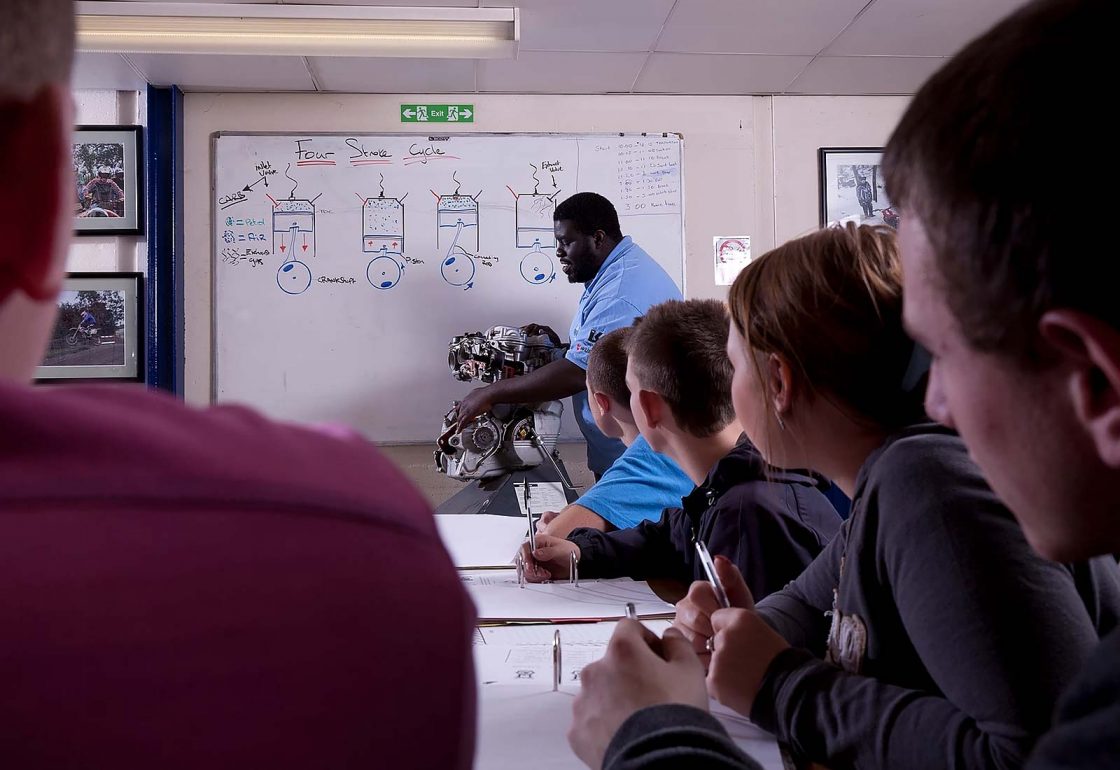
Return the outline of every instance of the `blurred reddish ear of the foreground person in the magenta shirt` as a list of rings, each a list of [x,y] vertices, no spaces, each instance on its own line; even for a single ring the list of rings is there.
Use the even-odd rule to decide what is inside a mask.
[[[62,224],[64,189],[73,185],[69,170],[69,92],[55,84],[45,86],[28,102],[6,104],[3,145],[8,165],[4,176],[13,184],[0,185],[0,210],[25,212],[18,227],[4,232],[0,252],[0,300],[18,290],[29,299],[54,299],[65,278],[59,241],[67,240],[73,224]],[[57,263],[57,264],[56,264]]]

